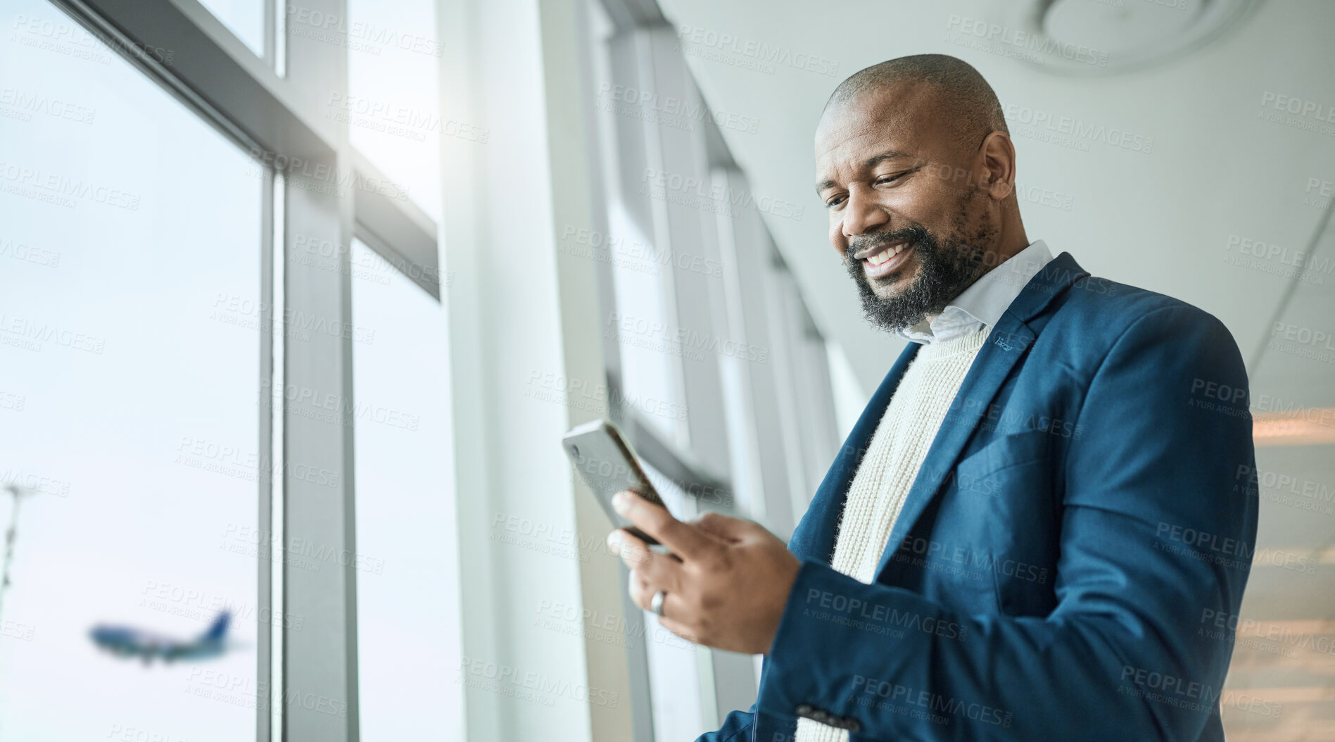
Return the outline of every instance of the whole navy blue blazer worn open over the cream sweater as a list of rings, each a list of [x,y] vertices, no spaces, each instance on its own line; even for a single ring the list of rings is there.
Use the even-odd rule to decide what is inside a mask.
[[[1222,741],[1258,510],[1228,330],[1059,255],[992,328],[864,585],[830,567],[836,527],[917,348],[793,532],[756,705],[700,739],[788,742],[809,717],[853,742]]]

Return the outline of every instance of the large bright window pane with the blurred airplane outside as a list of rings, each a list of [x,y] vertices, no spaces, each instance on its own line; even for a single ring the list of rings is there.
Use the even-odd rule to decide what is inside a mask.
[[[0,23],[0,738],[251,739],[262,171],[51,5]]]

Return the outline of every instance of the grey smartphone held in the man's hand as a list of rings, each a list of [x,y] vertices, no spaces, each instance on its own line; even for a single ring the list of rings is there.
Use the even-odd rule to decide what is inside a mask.
[[[607,420],[585,423],[570,428],[570,432],[561,438],[561,443],[570,456],[570,463],[593,490],[607,518],[618,528],[625,528],[645,543],[658,544],[654,536],[637,528],[611,507],[611,495],[622,490],[631,490],[651,503],[668,507],[654,491],[654,486],[617,426]]]

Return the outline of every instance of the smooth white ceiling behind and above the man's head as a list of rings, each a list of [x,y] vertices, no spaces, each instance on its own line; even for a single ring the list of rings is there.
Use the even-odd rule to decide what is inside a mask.
[[[1069,251],[1095,275],[1212,312],[1251,362],[1290,280],[1226,264],[1226,246],[1236,235],[1302,251],[1314,236],[1322,211],[1303,204],[1310,196],[1304,188],[1310,177],[1335,180],[1335,136],[1263,120],[1259,113],[1267,111],[1262,107],[1267,91],[1335,104],[1330,36],[1335,3],[1263,3],[1231,33],[1183,57],[1103,76],[1060,73],[1055,69],[1063,67],[1060,59],[1039,65],[948,40],[965,19],[1017,27],[1017,1],[661,0],[661,5],[678,29],[736,39],[725,47],[693,44],[690,33],[682,35],[688,64],[712,109],[758,121],[754,133],[722,129],[756,195],[805,207],[802,219],[766,214],[765,220],[817,324],[846,354],[864,392],[881,380],[902,342],[862,320],[848,275],[826,242],[825,211],[812,188],[812,135],[821,107],[845,76],[924,52],[952,53],[988,77],[1008,107],[1019,183],[1031,194],[1052,192],[1047,202],[1069,204],[1068,211],[1021,202],[1031,239],[1044,239],[1055,254]],[[1119,1],[1149,0],[1099,4]],[[745,52],[748,43],[780,49],[792,60],[816,57],[816,67],[837,63],[837,73],[793,64],[752,69],[745,64],[754,61]],[[1152,149],[1137,152],[1101,140],[1088,141],[1087,149],[1040,141],[1024,135],[1033,127],[1017,121],[1029,111],[1132,132],[1152,139]],[[1335,283],[1335,275],[1327,283]],[[1330,314],[1300,322],[1332,324]]]

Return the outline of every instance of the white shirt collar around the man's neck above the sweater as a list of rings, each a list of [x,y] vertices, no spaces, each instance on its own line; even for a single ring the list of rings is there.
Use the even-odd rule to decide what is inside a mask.
[[[913,327],[897,330],[898,335],[914,343],[934,343],[991,330],[1015,298],[1024,291],[1029,279],[1052,260],[1052,252],[1043,240],[1029,243],[1029,247],[1016,252],[1011,259],[983,274],[945,306],[930,322],[922,320]]]

